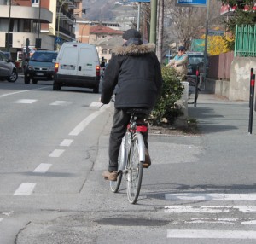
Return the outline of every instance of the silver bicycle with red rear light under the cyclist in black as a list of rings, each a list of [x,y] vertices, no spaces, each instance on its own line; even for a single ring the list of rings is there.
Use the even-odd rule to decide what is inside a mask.
[[[128,113],[131,114],[131,119],[119,150],[118,178],[117,181],[110,181],[110,189],[113,193],[117,193],[124,176],[128,200],[131,204],[135,204],[143,181],[143,162],[145,162],[142,132],[148,131],[148,124],[138,118],[148,114],[148,110],[132,108]]]

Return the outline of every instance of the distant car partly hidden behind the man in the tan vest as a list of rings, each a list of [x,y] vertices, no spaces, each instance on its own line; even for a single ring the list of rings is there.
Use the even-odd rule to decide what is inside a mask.
[[[188,76],[196,74],[196,68],[199,67],[199,72],[204,72],[204,53],[203,52],[187,52],[189,56],[188,64]],[[207,71],[208,71],[208,59],[207,59]]]

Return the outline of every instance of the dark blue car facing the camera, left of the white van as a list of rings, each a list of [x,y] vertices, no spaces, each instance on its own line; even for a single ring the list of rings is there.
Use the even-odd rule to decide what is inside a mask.
[[[38,80],[53,80],[55,75],[56,51],[38,50],[33,53],[30,60],[26,60],[24,69],[24,83],[38,84]]]

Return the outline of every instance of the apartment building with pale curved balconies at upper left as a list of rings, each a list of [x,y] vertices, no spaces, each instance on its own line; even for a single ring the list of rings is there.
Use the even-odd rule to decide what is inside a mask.
[[[0,0],[0,49],[9,50],[14,60],[29,48],[58,49],[75,40],[74,9],[82,0]],[[9,37],[9,38],[8,38]],[[9,45],[8,45],[9,43]]]

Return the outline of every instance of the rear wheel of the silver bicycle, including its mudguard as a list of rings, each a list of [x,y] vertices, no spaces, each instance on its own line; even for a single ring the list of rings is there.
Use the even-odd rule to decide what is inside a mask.
[[[140,148],[143,136],[137,134],[131,140],[131,150],[127,166],[127,197],[130,203],[135,204],[140,193],[143,181],[143,162],[140,161]]]

